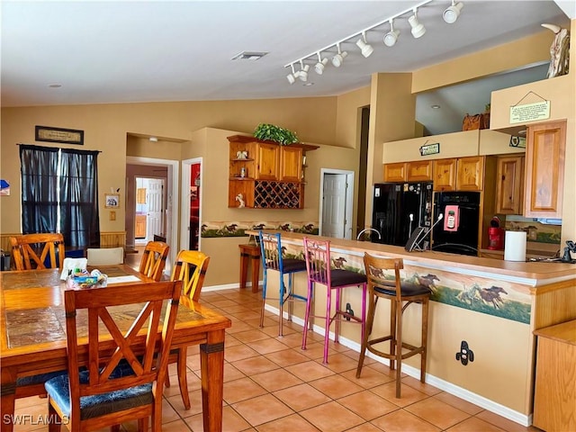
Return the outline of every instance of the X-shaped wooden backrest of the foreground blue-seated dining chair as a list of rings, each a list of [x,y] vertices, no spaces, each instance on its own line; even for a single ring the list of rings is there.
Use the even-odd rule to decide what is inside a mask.
[[[79,402],[75,398],[145,383],[163,385],[181,290],[182,282],[174,281],[67,290],[64,293],[73,416],[74,405]],[[89,379],[81,383],[79,374],[72,372],[79,366],[77,321],[86,319]],[[160,328],[161,338],[158,337]],[[160,354],[156,356],[158,347]],[[117,368],[122,360],[131,366],[130,374],[121,374],[125,376],[118,375]],[[129,370],[126,365],[122,368]]]

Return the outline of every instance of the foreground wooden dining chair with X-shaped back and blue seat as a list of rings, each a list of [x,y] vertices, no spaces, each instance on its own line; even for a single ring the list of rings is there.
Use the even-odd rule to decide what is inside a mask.
[[[182,283],[175,281],[64,292],[68,366],[67,374],[46,383],[49,432],[61,424],[84,432],[131,419],[146,431],[148,417],[152,431],[161,431],[162,391],[181,291]],[[87,347],[78,346],[86,337]],[[78,372],[83,356],[87,370]]]

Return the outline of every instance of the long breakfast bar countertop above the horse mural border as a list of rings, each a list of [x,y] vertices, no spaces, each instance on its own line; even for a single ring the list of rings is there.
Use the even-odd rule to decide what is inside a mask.
[[[306,235],[292,231],[278,231],[264,229],[265,232],[280,232],[282,238],[302,241],[304,237],[330,240],[330,247],[341,248],[350,253],[364,255],[364,252],[382,254],[386,257],[401,257],[406,261],[427,267],[449,266],[461,268],[468,272],[482,274],[495,274],[500,277],[518,278],[523,284],[541,286],[556,282],[575,280],[576,265],[567,263],[546,262],[512,262],[495,257],[469,257],[464,255],[447,254],[444,252],[407,252],[404,247],[383,245],[368,241],[348,240],[345,238],[328,238],[322,236]],[[258,235],[257,230],[247,230],[247,234]],[[490,251],[501,252],[501,251]]]

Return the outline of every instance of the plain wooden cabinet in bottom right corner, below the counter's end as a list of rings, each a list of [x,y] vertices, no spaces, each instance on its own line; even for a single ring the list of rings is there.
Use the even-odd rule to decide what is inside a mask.
[[[537,329],[534,419],[543,430],[576,430],[576,320]]]

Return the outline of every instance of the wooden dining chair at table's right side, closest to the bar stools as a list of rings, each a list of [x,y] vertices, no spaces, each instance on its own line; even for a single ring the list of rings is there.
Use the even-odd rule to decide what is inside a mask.
[[[210,264],[210,257],[197,250],[181,250],[178,252],[174,270],[170,280],[182,281],[184,295],[190,297],[194,302],[200,300],[200,292],[206,270]],[[168,363],[176,364],[178,373],[178,386],[182,394],[184,408],[190,410],[190,396],[188,395],[188,378],[186,377],[186,355],[187,346],[175,347],[170,353]],[[170,377],[166,374],[166,387],[170,387]]]

